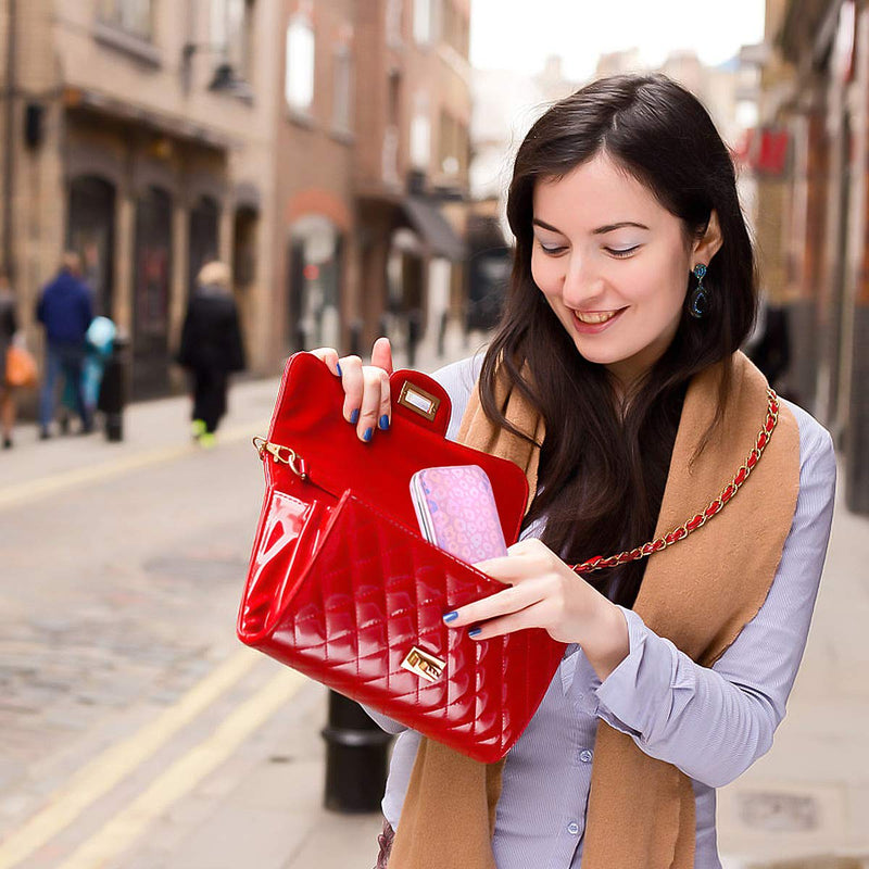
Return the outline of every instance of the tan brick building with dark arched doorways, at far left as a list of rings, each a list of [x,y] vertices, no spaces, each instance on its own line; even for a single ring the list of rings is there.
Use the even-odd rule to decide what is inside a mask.
[[[129,336],[134,398],[177,383],[184,310],[210,259],[234,266],[252,368],[274,362],[263,230],[276,207],[278,12],[256,0],[0,3],[13,95],[3,254],[23,319],[61,252],[78,251],[97,312]]]

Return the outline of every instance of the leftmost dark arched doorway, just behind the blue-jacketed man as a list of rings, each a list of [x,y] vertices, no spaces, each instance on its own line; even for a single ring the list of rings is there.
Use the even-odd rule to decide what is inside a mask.
[[[95,314],[113,316],[115,188],[97,175],[70,184],[66,249],[81,256],[84,278],[93,292]]]

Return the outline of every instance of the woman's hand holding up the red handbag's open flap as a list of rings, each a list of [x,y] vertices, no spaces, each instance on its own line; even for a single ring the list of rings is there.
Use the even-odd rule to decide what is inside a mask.
[[[311,351],[341,378],[344,388],[343,416],[356,427],[356,434],[366,443],[377,429],[386,430],[392,420],[389,376],[392,374],[392,348],[388,338],[378,338],[371,349],[371,364],[363,365],[358,356],[341,356],[330,347]]]

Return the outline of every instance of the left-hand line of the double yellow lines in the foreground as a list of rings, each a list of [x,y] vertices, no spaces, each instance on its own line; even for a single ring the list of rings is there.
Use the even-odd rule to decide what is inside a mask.
[[[108,748],[76,772],[52,794],[46,808],[0,843],[0,869],[15,866],[68,827],[261,659],[252,650],[240,648],[154,721]]]

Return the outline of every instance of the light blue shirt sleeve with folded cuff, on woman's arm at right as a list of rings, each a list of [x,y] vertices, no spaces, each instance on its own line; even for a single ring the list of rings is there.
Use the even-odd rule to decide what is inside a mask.
[[[733,781],[772,744],[803,657],[827,554],[835,454],[829,433],[797,412],[799,495],[779,569],[755,618],[705,668],[624,609],[630,652],[596,688],[600,718],[646,754],[713,788]]]

